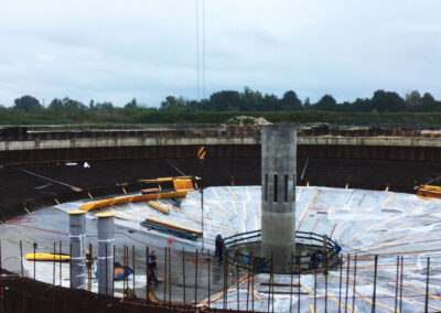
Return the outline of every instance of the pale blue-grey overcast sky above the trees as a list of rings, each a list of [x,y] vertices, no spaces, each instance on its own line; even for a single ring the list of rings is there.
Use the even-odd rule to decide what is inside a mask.
[[[205,0],[205,95],[440,99],[440,14],[439,0]],[[0,104],[194,99],[196,51],[196,0],[1,0]]]

